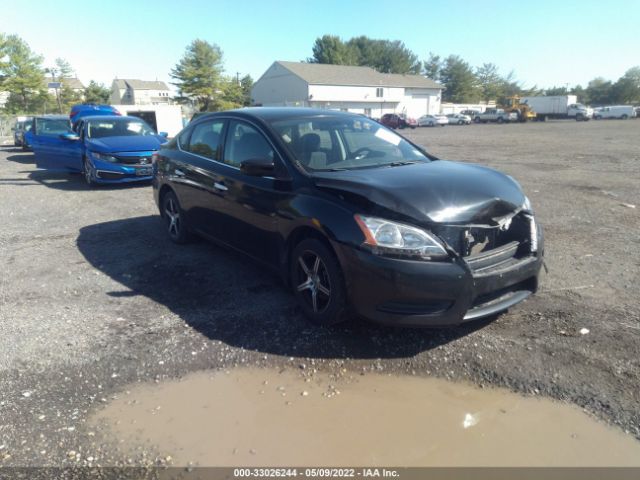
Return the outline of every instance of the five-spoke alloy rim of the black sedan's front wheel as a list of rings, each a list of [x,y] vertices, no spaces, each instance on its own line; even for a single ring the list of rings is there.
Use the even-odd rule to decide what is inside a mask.
[[[315,253],[306,250],[298,257],[296,289],[314,313],[324,312],[331,301],[331,280],[327,266]]]

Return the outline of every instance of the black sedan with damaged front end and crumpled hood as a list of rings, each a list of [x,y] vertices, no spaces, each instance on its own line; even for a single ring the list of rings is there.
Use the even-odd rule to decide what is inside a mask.
[[[538,287],[542,232],[513,178],[360,115],[200,116],[154,155],[153,187],[174,242],[197,234],[277,270],[319,324],[456,325]]]

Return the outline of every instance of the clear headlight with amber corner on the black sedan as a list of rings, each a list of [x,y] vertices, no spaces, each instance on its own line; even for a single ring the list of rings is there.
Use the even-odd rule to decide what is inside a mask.
[[[420,228],[364,215],[355,215],[355,220],[364,234],[364,243],[374,253],[425,260],[448,256],[442,243]]]

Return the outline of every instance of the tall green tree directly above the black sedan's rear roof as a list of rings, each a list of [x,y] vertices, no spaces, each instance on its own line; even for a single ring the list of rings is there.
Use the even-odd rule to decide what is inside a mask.
[[[172,83],[178,87],[179,97],[197,103],[201,112],[214,107],[214,99],[223,95],[222,50],[205,40],[194,40],[184,56],[171,70]],[[220,104],[220,102],[217,102]]]

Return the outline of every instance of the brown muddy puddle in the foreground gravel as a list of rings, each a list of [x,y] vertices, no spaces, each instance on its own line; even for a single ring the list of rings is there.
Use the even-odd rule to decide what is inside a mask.
[[[640,465],[640,442],[576,407],[416,377],[197,373],[133,387],[92,423],[174,465]]]

